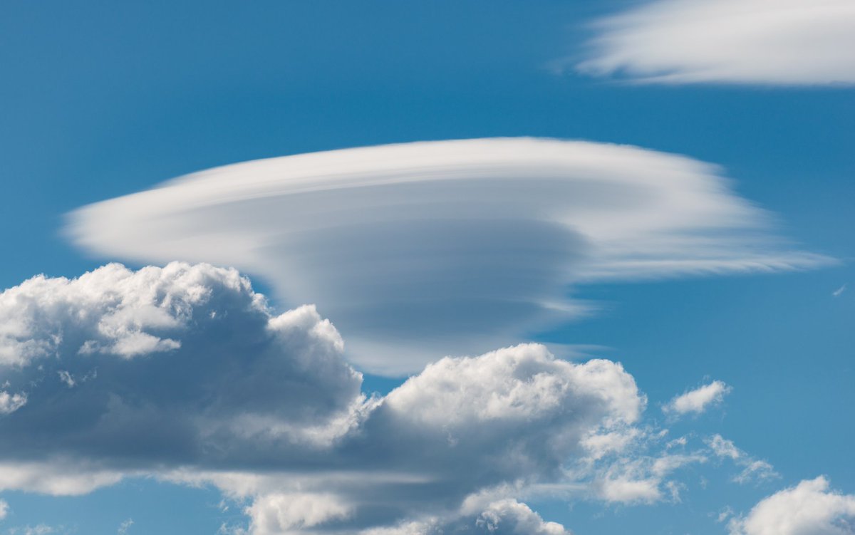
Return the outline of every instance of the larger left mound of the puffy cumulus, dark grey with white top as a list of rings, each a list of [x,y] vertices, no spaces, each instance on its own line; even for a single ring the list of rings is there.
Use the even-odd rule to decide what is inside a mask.
[[[233,269],[118,264],[0,294],[0,456],[209,462],[329,440],[361,377],[315,309]],[[264,453],[267,451],[268,453]]]

